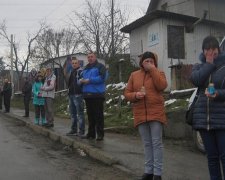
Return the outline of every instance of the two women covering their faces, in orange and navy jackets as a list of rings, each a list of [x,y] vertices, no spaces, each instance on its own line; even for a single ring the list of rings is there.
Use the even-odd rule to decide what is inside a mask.
[[[164,72],[157,55],[145,52],[140,70],[131,73],[124,95],[132,102],[134,126],[138,128],[145,152],[142,180],[161,180],[163,169],[162,126],[166,124],[163,90]],[[211,180],[225,177],[225,53],[219,42],[207,36],[202,42],[200,63],[193,66],[190,80],[198,88],[192,128],[199,131],[205,147]],[[214,85],[214,91],[209,90]]]

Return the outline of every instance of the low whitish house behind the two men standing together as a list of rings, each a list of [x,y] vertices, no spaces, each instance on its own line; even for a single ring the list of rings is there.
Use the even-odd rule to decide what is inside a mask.
[[[56,90],[64,90],[67,88],[67,81],[72,70],[71,59],[76,57],[84,67],[88,64],[87,54],[85,53],[75,53],[66,56],[60,56],[56,58],[51,58],[40,65],[40,67],[46,67],[51,65],[54,68],[54,74],[56,75]],[[97,59],[100,63],[105,64],[105,60]]]

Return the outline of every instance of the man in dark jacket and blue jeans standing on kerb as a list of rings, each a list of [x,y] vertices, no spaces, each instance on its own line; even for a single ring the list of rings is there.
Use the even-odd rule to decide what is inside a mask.
[[[81,76],[80,63],[76,57],[72,58],[73,71],[70,74],[68,88],[69,88],[69,107],[70,116],[72,120],[71,130],[67,135],[83,136],[85,133],[85,120],[84,120],[84,101],[81,91],[81,85],[78,81]],[[79,124],[79,132],[77,130]]]

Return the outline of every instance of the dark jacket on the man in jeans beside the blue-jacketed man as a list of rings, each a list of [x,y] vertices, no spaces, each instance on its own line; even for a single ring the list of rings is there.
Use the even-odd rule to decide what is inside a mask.
[[[81,79],[82,69],[74,69],[69,77],[68,88],[69,95],[82,94],[82,85],[78,83]]]

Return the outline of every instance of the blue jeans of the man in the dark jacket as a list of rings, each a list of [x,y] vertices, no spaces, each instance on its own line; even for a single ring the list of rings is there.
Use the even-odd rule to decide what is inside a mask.
[[[70,116],[72,120],[71,129],[77,132],[77,123],[79,123],[79,134],[85,133],[84,120],[84,100],[82,95],[69,95]]]

